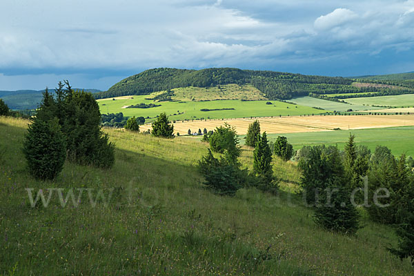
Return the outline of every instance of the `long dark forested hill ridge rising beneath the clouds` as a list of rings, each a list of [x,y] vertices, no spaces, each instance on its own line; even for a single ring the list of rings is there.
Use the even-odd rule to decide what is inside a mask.
[[[375,82],[369,79],[365,82]],[[133,75],[115,83],[108,91],[95,94],[96,99],[120,97],[127,95],[148,95],[152,92],[175,88],[208,88],[226,84],[248,84],[266,95],[267,99],[291,99],[308,95],[335,93],[381,92],[403,94],[413,92],[412,88],[391,86],[355,86],[355,79],[344,77],[324,77],[273,72],[260,70],[241,70],[237,68],[207,68],[202,70],[185,70],[175,68],[155,68]],[[397,84],[400,86],[400,84]],[[414,88],[414,87],[413,87]]]

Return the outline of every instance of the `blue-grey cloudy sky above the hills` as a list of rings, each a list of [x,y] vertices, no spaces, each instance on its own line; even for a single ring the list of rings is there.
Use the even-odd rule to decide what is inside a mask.
[[[414,71],[414,0],[1,0],[0,90],[107,90],[149,68]]]

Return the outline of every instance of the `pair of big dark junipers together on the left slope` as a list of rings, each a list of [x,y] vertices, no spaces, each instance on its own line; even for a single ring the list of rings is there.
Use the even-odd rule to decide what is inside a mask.
[[[28,169],[39,179],[54,179],[66,159],[110,168],[115,145],[101,130],[99,106],[91,93],[59,82],[55,97],[46,89],[23,142]]]

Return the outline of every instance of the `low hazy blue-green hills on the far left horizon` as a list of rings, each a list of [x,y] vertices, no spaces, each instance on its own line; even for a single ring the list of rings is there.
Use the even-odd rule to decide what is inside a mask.
[[[74,88],[74,90],[82,90],[79,88]],[[86,92],[97,93],[101,90],[97,89],[83,89]],[[8,107],[13,110],[26,110],[37,108],[37,105],[42,99],[42,93],[45,90],[16,90],[16,91],[7,91],[0,90],[0,98],[6,102]],[[54,91],[50,89],[50,91]]]

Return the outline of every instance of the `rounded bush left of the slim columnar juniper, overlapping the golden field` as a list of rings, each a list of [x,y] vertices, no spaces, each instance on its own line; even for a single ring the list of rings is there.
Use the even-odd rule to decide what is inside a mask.
[[[224,153],[230,162],[237,162],[242,150],[239,146],[237,132],[233,126],[224,123],[224,126],[217,127],[209,137],[209,141],[211,150]]]

